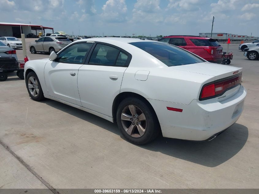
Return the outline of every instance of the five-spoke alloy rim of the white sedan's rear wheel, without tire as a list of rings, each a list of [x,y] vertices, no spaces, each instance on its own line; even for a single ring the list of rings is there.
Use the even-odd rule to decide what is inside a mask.
[[[134,138],[142,137],[147,129],[146,116],[135,105],[124,107],[121,113],[121,123],[126,133]]]

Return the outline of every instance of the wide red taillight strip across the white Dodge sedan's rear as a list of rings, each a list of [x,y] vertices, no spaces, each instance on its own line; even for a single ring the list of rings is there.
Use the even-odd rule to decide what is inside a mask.
[[[228,89],[240,85],[242,81],[242,73],[236,75],[235,77],[226,78],[222,81],[216,81],[211,84],[206,84],[203,86],[200,94],[199,100],[207,100],[209,98],[214,98],[221,96]]]

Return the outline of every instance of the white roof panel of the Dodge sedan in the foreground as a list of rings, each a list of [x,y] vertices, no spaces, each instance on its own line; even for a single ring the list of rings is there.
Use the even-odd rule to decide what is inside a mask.
[[[111,43],[111,42],[120,42],[120,43],[132,43],[132,42],[157,42],[154,40],[140,40],[138,38],[122,38],[122,37],[101,37],[101,38],[87,38],[77,40],[79,41],[97,41],[97,42],[104,42],[104,43]]]

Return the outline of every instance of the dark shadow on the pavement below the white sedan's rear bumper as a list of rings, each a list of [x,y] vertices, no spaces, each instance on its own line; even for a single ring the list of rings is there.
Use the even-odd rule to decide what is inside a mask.
[[[164,138],[161,134],[153,142],[141,147],[207,167],[215,167],[237,154],[246,144],[247,138],[247,127],[235,123],[209,142]]]

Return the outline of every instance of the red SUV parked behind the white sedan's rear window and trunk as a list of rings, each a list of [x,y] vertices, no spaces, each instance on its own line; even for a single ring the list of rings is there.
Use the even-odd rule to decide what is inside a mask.
[[[222,63],[222,46],[217,39],[201,36],[165,36],[158,40],[184,48],[201,58],[212,62]]]

